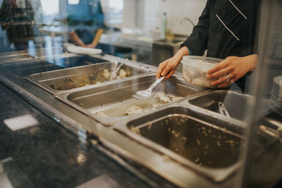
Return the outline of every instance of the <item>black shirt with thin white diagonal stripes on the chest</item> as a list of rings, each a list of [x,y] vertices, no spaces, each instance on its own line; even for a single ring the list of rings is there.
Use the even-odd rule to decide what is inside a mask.
[[[193,56],[226,58],[257,53],[259,0],[207,0],[199,23],[181,44]],[[246,76],[236,83],[245,91]]]

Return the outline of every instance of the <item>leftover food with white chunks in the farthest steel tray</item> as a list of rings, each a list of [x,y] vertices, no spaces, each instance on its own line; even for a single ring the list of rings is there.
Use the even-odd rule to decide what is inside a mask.
[[[63,80],[63,83],[61,84],[51,84],[50,87],[52,89],[56,90],[69,90],[69,89],[75,89],[78,87],[85,87],[92,84],[99,84],[102,82],[109,81],[111,73],[109,70],[99,70],[97,73],[90,74],[84,74],[84,75],[78,75],[75,77],[66,77],[65,80]],[[124,70],[121,69],[119,73],[114,76],[116,79],[122,79],[124,77],[130,77],[131,73],[130,70]],[[111,78],[112,80],[112,78]]]

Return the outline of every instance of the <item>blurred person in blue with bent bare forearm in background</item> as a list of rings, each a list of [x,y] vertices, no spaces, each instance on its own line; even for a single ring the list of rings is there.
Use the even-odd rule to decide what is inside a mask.
[[[74,44],[87,48],[96,48],[104,31],[104,14],[100,1],[94,1],[94,18],[92,30],[78,29],[70,33],[70,40]]]

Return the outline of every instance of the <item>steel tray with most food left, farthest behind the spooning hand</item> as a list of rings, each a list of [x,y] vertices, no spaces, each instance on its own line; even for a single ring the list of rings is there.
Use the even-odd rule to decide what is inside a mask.
[[[75,68],[36,73],[27,76],[26,78],[48,92],[55,94],[64,90],[96,84],[97,81],[109,81],[109,79],[104,77],[103,71],[107,70],[111,73],[114,70],[114,66],[115,63],[113,62],[95,63]],[[151,72],[149,68],[141,68],[127,64],[122,65],[121,69],[125,70],[127,73],[126,77],[133,77]]]

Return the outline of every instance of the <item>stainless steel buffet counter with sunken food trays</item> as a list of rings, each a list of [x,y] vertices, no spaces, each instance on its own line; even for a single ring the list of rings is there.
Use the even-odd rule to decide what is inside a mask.
[[[145,166],[179,187],[231,187],[245,142],[245,111],[238,104],[252,96],[197,87],[176,74],[163,80],[151,98],[133,99],[134,92],[154,82],[156,71],[109,55],[65,54],[54,61],[2,63],[0,80],[82,143],[118,154],[136,171]],[[231,118],[219,113],[219,102]],[[263,120],[262,125],[257,148],[262,138],[264,146],[278,144],[277,123]]]

